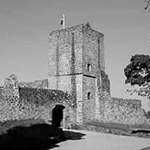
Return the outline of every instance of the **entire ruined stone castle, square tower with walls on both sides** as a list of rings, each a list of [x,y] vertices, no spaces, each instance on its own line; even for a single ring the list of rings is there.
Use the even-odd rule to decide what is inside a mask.
[[[0,121],[40,118],[49,122],[57,104],[65,106],[63,126],[92,122],[149,125],[140,100],[112,98],[105,73],[104,35],[89,23],[49,35],[48,80],[18,83],[6,79],[0,88]]]

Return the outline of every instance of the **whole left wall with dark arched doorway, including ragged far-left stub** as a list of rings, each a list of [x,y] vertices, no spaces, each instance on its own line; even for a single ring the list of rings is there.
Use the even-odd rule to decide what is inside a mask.
[[[63,126],[70,128],[75,125],[75,108],[70,95],[59,90],[18,87],[18,81],[12,81],[10,76],[1,88],[0,121],[40,118],[50,123],[52,109],[61,104],[66,107]],[[14,86],[18,93],[14,93]]]

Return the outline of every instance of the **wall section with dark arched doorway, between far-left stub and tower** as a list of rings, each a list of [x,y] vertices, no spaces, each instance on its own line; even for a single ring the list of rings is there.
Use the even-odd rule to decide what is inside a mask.
[[[68,114],[64,113],[64,119],[67,118],[68,125],[74,123],[74,104],[67,93],[58,90],[20,88],[19,94],[21,118],[40,118],[49,122],[52,109],[57,104],[61,104],[65,106],[65,112],[69,111]]]

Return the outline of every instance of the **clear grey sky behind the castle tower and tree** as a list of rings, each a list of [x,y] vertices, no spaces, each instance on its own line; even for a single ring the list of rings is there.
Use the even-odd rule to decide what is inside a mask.
[[[126,93],[124,68],[135,54],[150,54],[150,8],[144,0],[0,0],[0,85],[48,78],[49,33],[89,22],[104,34],[105,68],[113,97]]]

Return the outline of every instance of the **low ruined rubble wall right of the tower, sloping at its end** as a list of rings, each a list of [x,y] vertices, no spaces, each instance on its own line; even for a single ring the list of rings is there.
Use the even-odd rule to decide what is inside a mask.
[[[122,124],[150,124],[140,100],[111,98],[105,94],[100,99],[99,121]]]

